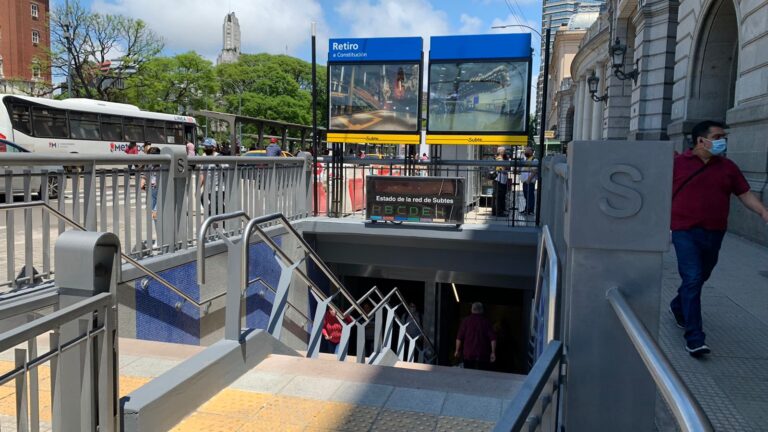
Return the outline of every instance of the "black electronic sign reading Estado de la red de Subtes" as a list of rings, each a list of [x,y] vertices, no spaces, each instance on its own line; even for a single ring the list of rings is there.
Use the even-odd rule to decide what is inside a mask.
[[[377,221],[464,223],[464,179],[366,178],[366,218]]]

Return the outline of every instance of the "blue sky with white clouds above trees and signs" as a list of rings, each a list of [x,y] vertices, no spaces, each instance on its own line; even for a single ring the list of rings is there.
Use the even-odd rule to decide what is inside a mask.
[[[104,13],[140,18],[165,40],[165,54],[194,50],[215,61],[222,23],[229,11],[240,21],[242,51],[311,58],[310,23],[318,26],[318,61],[325,63],[328,39],[490,33],[499,24],[540,30],[540,0],[81,0]],[[53,0],[53,5],[64,0]],[[522,28],[501,30],[526,32]],[[535,34],[534,80],[539,70]],[[426,55],[425,55],[426,57]]]

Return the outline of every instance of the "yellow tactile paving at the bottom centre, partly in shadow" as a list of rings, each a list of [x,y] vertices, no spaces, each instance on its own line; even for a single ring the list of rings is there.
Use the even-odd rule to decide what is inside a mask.
[[[225,389],[173,431],[488,431],[494,424],[377,407]]]

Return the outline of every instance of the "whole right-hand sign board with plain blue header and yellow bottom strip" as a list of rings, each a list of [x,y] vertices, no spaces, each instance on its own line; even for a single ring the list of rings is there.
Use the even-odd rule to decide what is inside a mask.
[[[513,136],[528,130],[530,41],[529,34],[432,37],[428,142],[524,143]]]

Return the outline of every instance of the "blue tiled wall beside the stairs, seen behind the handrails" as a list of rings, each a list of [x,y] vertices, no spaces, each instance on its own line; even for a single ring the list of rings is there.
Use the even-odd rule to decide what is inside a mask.
[[[278,245],[281,237],[274,238]],[[190,262],[159,272],[160,276],[179,288],[184,294],[200,301],[197,285],[197,263]],[[280,266],[274,252],[264,243],[251,245],[248,261],[248,280],[261,276],[273,288],[280,279]],[[136,292],[136,338],[189,345],[200,344],[200,312],[195,305],[182,303],[180,311],[176,303],[181,296],[150,279],[147,289],[141,288],[141,279],[134,282]],[[226,289],[222,281],[221,289]],[[274,301],[272,291],[261,283],[253,283],[246,290],[246,326],[263,329],[267,325]],[[223,323],[222,323],[223,325]]]

